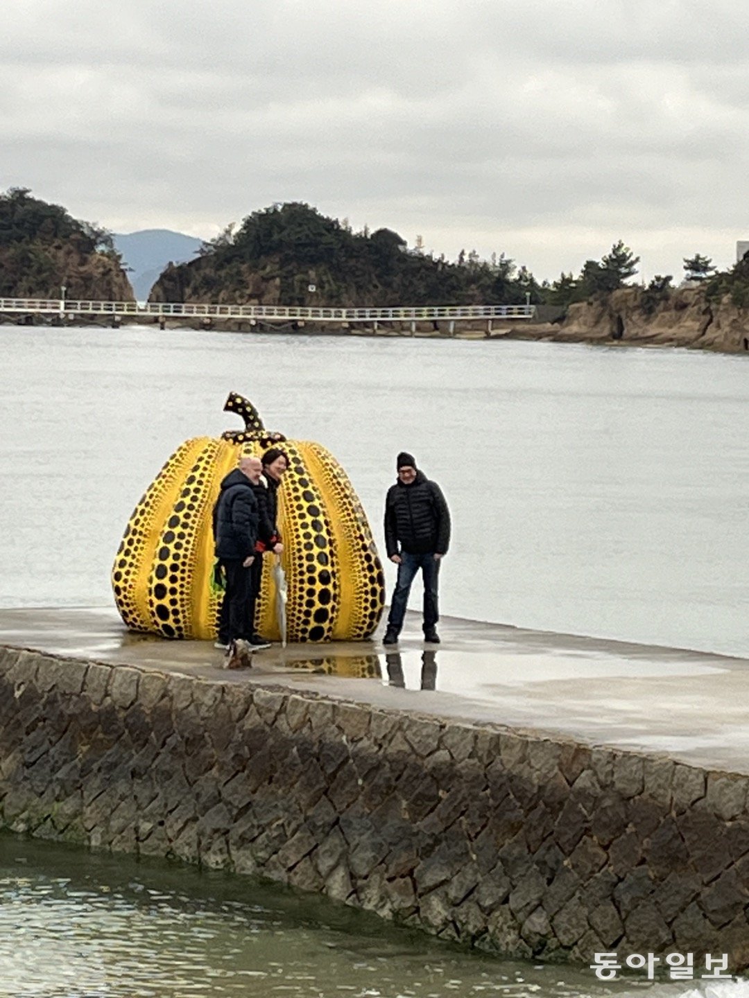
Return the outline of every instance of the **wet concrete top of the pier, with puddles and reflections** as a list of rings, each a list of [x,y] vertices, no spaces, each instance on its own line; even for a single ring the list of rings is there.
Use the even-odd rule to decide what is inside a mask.
[[[491,722],[588,745],[749,773],[749,661],[443,618],[425,645],[409,615],[381,640],[278,645],[222,669],[209,642],[125,630],[114,610],[0,611],[0,645],[203,679],[280,684],[391,710]]]

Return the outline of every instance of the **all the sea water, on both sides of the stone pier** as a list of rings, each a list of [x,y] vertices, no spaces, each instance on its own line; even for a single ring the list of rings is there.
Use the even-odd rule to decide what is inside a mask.
[[[377,539],[394,455],[416,455],[453,514],[444,613],[749,655],[744,357],[135,327],[4,326],[0,346],[0,607],[109,604],[136,500],[183,439],[238,425],[222,412],[235,389],[270,428],[339,456]],[[3,996],[644,988],[461,953],[250,881],[0,836]]]

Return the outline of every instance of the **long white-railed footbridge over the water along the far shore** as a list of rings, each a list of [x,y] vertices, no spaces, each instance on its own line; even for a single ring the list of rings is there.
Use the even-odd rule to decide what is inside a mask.
[[[0,298],[0,314],[29,316],[57,316],[68,321],[79,317],[113,319],[150,319],[165,322],[168,319],[203,320],[244,319],[250,325],[258,322],[325,322],[347,325],[359,323],[374,325],[378,322],[454,322],[485,321],[488,328],[495,319],[531,319],[535,305],[424,305],[396,308],[323,308],[296,305],[240,305],[207,304],[189,301],[76,301],[70,298]]]

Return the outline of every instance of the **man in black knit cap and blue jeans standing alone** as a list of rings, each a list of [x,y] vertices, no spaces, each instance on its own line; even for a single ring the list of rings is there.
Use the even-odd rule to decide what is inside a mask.
[[[387,557],[397,565],[397,582],[383,644],[397,642],[411,583],[419,569],[423,576],[424,641],[438,644],[437,581],[439,562],[449,547],[450,514],[441,489],[418,471],[411,454],[401,451],[396,469],[397,481],[388,489],[384,503],[384,541]]]

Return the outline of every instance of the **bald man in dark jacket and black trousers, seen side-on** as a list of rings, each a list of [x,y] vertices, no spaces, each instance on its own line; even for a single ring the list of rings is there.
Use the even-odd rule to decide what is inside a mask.
[[[260,481],[262,473],[260,458],[241,458],[239,467],[222,481],[214,506],[216,557],[227,580],[217,646],[227,649],[228,661],[236,661],[238,650],[244,654],[252,650],[250,639],[255,631],[251,616],[254,610],[252,567],[260,522],[254,485]]]

